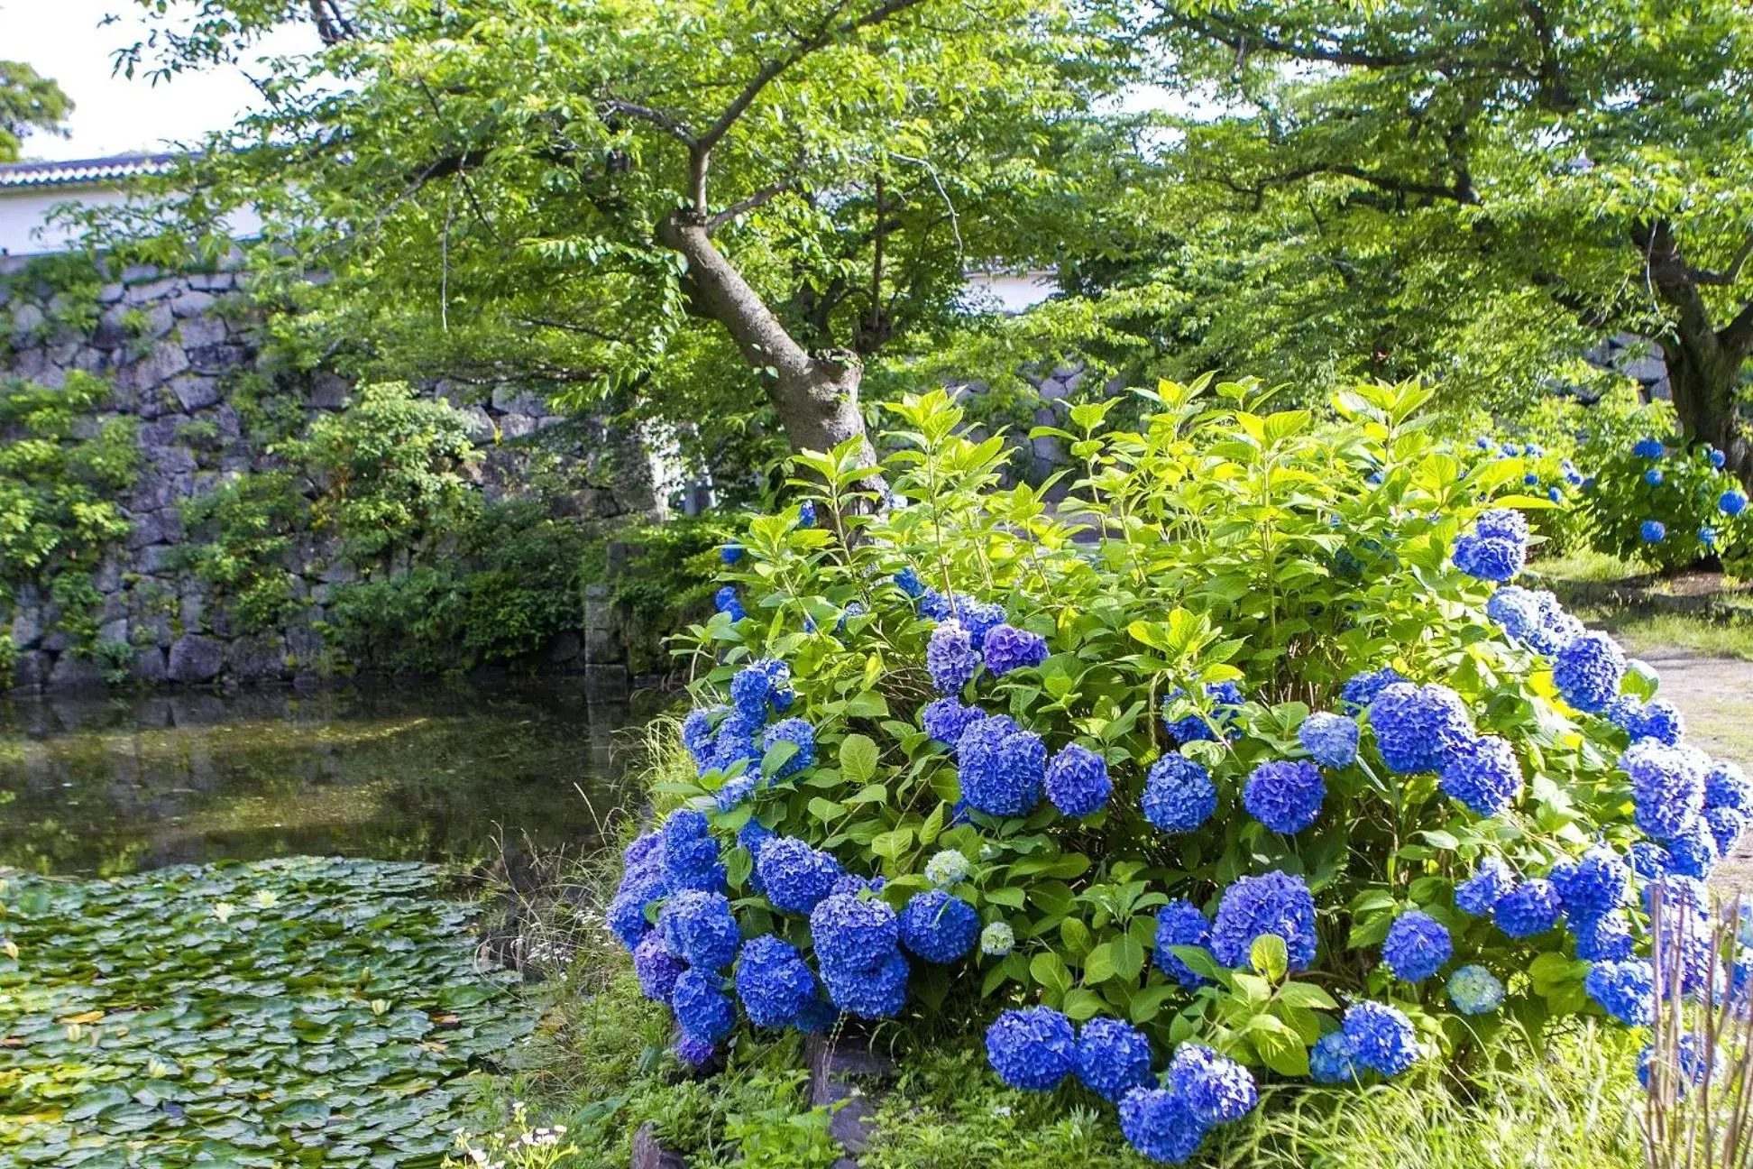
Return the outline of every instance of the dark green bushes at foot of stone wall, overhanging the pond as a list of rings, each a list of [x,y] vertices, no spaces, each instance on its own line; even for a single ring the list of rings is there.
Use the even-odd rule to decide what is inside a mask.
[[[515,661],[582,626],[586,531],[542,503],[482,507],[436,564],[342,584],[328,634],[359,666],[447,673]]]

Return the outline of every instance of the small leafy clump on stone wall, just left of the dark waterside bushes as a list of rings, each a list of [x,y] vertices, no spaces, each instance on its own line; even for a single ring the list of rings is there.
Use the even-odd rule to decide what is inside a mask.
[[[238,475],[179,503],[191,538],[181,564],[214,585],[245,633],[270,629],[296,606],[286,556],[309,522],[291,471]]]

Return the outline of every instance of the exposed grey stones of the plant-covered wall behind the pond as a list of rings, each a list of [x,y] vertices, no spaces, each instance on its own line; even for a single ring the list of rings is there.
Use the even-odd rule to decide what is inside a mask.
[[[103,596],[100,640],[130,645],[130,673],[145,684],[293,682],[333,670],[321,634],[324,605],[354,575],[333,538],[298,535],[284,566],[300,605],[266,631],[231,629],[209,585],[179,568],[179,549],[195,538],[184,531],[184,499],[240,473],[284,470],[240,419],[237,394],[249,380],[240,375],[258,372],[259,338],[238,277],[130,270],[98,293],[88,329],[54,328],[53,308],[23,261],[0,258],[0,377],[58,387],[70,370],[84,370],[112,387],[103,417],[137,419],[140,475],[121,499],[131,531],[95,575]],[[307,424],[349,400],[351,386],[333,373],[272,379],[277,393],[296,398]],[[468,417],[484,450],[472,475],[487,499],[529,491],[540,471],[542,498],[556,514],[614,519],[661,510],[650,459],[633,435],[561,417],[540,394],[510,386],[433,384],[421,393]],[[14,685],[102,685],[105,666],[74,652],[56,620],[42,591],[18,587],[11,603],[0,592],[0,636],[18,650]],[[580,634],[559,638],[531,664],[584,668]]]

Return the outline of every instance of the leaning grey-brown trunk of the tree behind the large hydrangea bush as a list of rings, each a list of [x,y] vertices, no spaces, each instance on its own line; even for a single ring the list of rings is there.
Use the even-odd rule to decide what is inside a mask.
[[[812,356],[766,307],[706,233],[701,216],[677,210],[657,224],[657,240],[687,259],[698,307],[722,324],[743,358],[763,370],[773,408],[792,450],[833,450],[859,440],[859,464],[873,468],[864,485],[880,489],[876,452],[864,433],[859,382],[864,368],[854,354]]]

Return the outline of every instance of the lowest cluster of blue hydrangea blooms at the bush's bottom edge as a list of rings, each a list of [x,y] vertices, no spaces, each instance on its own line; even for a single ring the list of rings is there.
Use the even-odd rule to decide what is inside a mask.
[[[1048,1006],[1011,1010],[987,1027],[985,1048],[999,1080],[1022,1092],[1050,1092],[1075,1076],[1120,1106],[1120,1132],[1132,1148],[1171,1165],[1260,1102],[1246,1067],[1197,1043],[1180,1045],[1153,1074],[1150,1039],[1117,1018],[1092,1018],[1080,1032]]]

